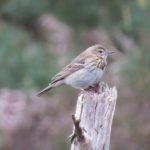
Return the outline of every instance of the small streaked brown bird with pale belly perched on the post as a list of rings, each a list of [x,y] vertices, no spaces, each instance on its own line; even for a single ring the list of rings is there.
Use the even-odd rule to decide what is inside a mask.
[[[49,85],[37,95],[41,96],[45,92],[63,84],[80,90],[85,90],[98,84],[107,66],[107,56],[114,52],[106,49],[101,44],[88,47],[69,65],[57,73],[51,79]]]

